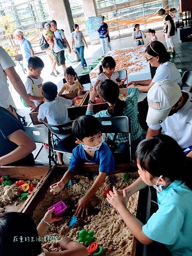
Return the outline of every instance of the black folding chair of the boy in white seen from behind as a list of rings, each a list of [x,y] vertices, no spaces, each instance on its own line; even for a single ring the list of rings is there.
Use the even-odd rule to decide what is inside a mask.
[[[52,137],[52,150],[54,154],[54,160],[55,164],[57,164],[57,157],[56,157],[56,152],[61,152],[61,153],[72,153],[73,148],[76,147],[75,140],[73,141],[73,138],[66,137],[65,139],[60,139],[58,135],[72,135],[72,123],[73,121],[67,122],[63,125],[49,125],[47,122],[44,120],[40,119],[42,123],[49,129]],[[55,143],[55,138],[59,141],[57,144]]]

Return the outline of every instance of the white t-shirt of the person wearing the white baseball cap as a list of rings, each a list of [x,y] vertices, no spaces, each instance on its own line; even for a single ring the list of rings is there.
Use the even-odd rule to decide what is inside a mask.
[[[162,134],[173,137],[181,148],[192,146],[192,93],[189,93],[189,99],[177,113],[167,116],[165,121],[159,125],[150,125],[153,130],[159,130]]]

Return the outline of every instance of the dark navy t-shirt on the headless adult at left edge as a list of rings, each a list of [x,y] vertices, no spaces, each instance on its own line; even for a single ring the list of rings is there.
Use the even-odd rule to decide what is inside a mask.
[[[18,147],[17,144],[13,143],[7,138],[10,134],[18,130],[24,131],[23,124],[17,118],[15,118],[12,113],[7,111],[5,108],[0,107],[0,157],[9,154]],[[34,164],[35,161],[32,153],[15,163],[9,163],[9,165],[22,166]]]

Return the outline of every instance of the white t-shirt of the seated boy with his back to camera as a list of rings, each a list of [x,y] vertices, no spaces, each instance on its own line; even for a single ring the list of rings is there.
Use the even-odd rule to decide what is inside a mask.
[[[39,106],[38,119],[44,120],[50,125],[63,125],[70,121],[67,108],[72,106],[72,100],[63,97],[57,97],[52,102],[44,102]],[[60,139],[67,137],[66,135],[58,136]]]

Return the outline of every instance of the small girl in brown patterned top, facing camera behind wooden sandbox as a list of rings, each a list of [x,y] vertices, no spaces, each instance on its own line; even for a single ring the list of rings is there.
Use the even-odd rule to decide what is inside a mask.
[[[79,83],[78,76],[73,69],[73,67],[67,67],[64,71],[64,77],[67,81],[67,83],[63,84],[61,87],[60,92],[58,93],[58,97],[65,93],[76,93],[78,92],[78,96],[82,95],[82,90],[84,90],[84,87]],[[76,80],[75,80],[76,79]]]

